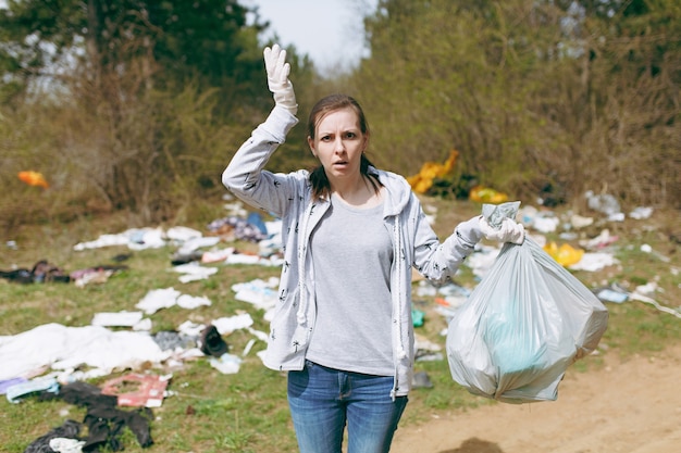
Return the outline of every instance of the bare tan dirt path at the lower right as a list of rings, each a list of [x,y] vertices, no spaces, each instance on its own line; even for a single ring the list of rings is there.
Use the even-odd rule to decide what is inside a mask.
[[[568,369],[558,399],[496,403],[399,428],[392,453],[681,452],[681,345]],[[409,408],[407,408],[409,410]]]

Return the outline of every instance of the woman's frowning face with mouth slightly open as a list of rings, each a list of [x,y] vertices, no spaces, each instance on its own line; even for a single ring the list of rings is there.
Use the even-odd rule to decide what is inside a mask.
[[[326,114],[308,143],[332,180],[359,174],[368,138],[359,127],[357,113],[347,108]]]

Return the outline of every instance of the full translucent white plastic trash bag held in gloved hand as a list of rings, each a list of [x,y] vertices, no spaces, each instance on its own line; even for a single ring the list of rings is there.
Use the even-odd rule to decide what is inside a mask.
[[[500,225],[519,206],[485,204],[483,216]],[[507,403],[556,400],[566,369],[595,350],[607,322],[598,298],[534,240],[506,243],[449,322],[451,377]]]

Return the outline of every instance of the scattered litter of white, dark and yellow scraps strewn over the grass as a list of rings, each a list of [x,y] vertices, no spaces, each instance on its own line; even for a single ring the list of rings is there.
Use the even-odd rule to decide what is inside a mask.
[[[418,181],[413,180],[414,184],[420,184],[419,187],[422,188],[426,187],[429,183],[424,175],[428,173],[437,177],[443,172],[449,171],[456,155],[456,151],[453,151],[445,165],[426,168],[430,173],[424,172]],[[478,188],[471,193],[481,201],[506,199],[505,194],[484,188]],[[558,215],[545,206],[525,205],[518,212],[517,221],[525,226],[533,240],[560,265],[571,270],[596,272],[618,264],[614,247],[619,238],[610,232],[608,225],[623,222],[627,217],[648,218],[653,210],[641,206],[624,215],[617,200],[610,197],[586,192],[585,199],[594,214],[592,217],[571,212]],[[283,256],[281,221],[276,218],[264,221],[258,213],[244,210],[238,202],[225,204],[225,207],[228,215],[207,225],[206,234],[183,226],[168,229],[134,228],[119,234],[101,235],[94,240],[79,242],[73,248],[78,252],[111,246],[126,247],[129,253],[115,255],[112,259],[115,264],[96,264],[66,272],[63,266],[40,260],[33,266],[0,270],[0,278],[21,285],[74,284],[79,287],[91,284],[103,285],[110,277],[124,274],[128,269],[126,265],[120,263],[128,260],[133,253],[162,247],[174,249],[169,266],[172,272],[178,274],[179,284],[212,278],[220,266],[233,264],[281,266]],[[431,206],[425,207],[429,212],[435,212]],[[585,234],[586,230],[590,234]],[[598,234],[594,235],[594,230]],[[547,240],[547,235],[557,239]],[[234,246],[235,240],[256,243],[258,251],[239,251]],[[8,247],[16,244],[8,243]],[[669,261],[647,244],[643,244],[641,250],[664,262]],[[497,248],[481,243],[469,256],[466,265],[478,278],[482,278],[498,252]],[[250,304],[259,313],[262,311],[264,320],[269,320],[277,301],[277,278],[256,279],[236,284],[232,290],[236,300]],[[428,323],[422,310],[423,304],[434,302],[436,313],[450,319],[458,307],[466,303],[471,292],[454,282],[435,288],[418,278],[414,279],[413,290],[412,317],[417,328]],[[678,309],[665,307],[657,303],[656,290],[654,282],[640,285],[633,289],[624,289],[612,284],[594,288],[593,292],[604,302],[623,303],[637,300],[681,317]],[[248,313],[211,319],[203,324],[186,320],[174,330],[151,334],[157,312],[172,306],[190,311],[211,303],[210,299],[202,294],[188,294],[172,287],[151,288],[139,301],[120,312],[94,314],[89,326],[66,327],[47,324],[15,336],[0,337],[0,363],[3,364],[0,369],[0,394],[5,394],[8,401],[21,403],[27,398],[39,400],[61,398],[88,407],[88,415],[83,423],[67,420],[53,432],[36,439],[34,451],[40,451],[38,445],[46,444],[50,446],[54,444],[55,446],[51,446],[52,450],[59,451],[55,448],[60,442],[62,442],[60,445],[63,445],[66,442],[64,439],[72,441],[71,448],[82,448],[83,451],[95,444],[106,444],[113,450],[119,441],[116,429],[125,424],[135,426],[131,429],[137,436],[139,444],[148,446],[152,444],[149,433],[153,419],[151,411],[159,407],[165,398],[173,395],[173,367],[181,366],[187,361],[203,358],[208,360],[219,373],[239,373],[242,361],[251,353],[255,343],[267,341],[265,332],[252,328],[253,319]],[[247,345],[240,352],[233,351],[224,340],[236,330],[244,330],[250,336]],[[416,343],[417,362],[444,360],[441,345],[425,340],[418,331]],[[156,369],[170,372],[154,374],[148,368],[140,372],[143,363],[152,364]],[[107,377],[116,370],[125,369],[131,373],[110,379],[101,387],[95,388],[85,383],[88,379]],[[134,382],[137,390],[121,392],[119,386],[123,382]],[[414,388],[432,387],[424,373],[414,375],[413,385]],[[126,412],[131,406],[134,407],[133,412]],[[106,427],[88,426],[89,437],[82,437],[81,429],[91,423],[91,417],[95,416],[106,420],[101,421]]]

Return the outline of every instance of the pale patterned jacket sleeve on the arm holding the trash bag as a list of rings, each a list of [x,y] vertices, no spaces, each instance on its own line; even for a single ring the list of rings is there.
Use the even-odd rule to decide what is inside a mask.
[[[447,239],[439,242],[420,205],[419,212],[414,235],[414,267],[429,280],[444,284],[456,274],[482,239],[479,217],[461,222]]]

